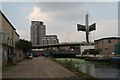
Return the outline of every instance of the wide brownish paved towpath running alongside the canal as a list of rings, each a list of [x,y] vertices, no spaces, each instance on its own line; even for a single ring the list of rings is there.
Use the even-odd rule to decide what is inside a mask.
[[[74,73],[44,57],[25,60],[3,72],[3,78],[70,78]]]

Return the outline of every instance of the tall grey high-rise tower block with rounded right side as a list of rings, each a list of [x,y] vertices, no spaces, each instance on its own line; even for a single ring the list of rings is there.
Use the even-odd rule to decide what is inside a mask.
[[[46,35],[46,27],[41,21],[31,21],[31,42],[33,45],[42,45],[42,39]]]

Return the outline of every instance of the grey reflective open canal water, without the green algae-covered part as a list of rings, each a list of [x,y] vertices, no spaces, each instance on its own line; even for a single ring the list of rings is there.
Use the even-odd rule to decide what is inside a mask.
[[[93,64],[75,64],[79,70],[95,78],[120,78],[120,69],[109,66],[98,66]]]

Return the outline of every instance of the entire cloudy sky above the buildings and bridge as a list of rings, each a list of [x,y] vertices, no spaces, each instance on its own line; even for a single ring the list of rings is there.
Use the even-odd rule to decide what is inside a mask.
[[[90,40],[118,35],[117,2],[4,2],[2,11],[17,29],[20,38],[30,40],[31,20],[43,21],[47,34],[56,34],[60,42],[85,41],[85,33],[77,31],[77,24],[97,24]]]

